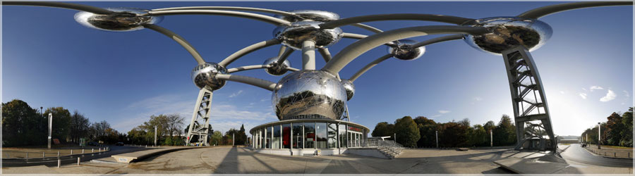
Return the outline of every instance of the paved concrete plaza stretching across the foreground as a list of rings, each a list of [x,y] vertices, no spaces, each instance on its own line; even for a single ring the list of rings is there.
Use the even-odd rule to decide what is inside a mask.
[[[291,173],[291,174],[498,174],[512,173],[493,161],[521,155],[508,149],[478,149],[469,151],[439,149],[406,149],[394,159],[367,156],[277,156],[255,153],[241,147],[215,147],[174,151],[147,158],[138,163],[92,163],[61,168],[32,166],[3,168],[11,173],[60,174],[236,174],[236,173]],[[558,173],[632,173],[632,168],[608,168],[583,163]]]

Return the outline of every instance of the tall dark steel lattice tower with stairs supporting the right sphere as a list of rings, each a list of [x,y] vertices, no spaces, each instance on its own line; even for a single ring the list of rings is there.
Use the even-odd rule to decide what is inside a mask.
[[[516,150],[555,151],[555,137],[545,91],[531,54],[524,46],[502,51],[512,93],[516,122]],[[533,121],[540,120],[536,124]],[[525,128],[525,126],[531,128]],[[533,130],[538,128],[538,130]],[[542,129],[542,130],[541,130]],[[548,137],[548,139],[545,138]]]

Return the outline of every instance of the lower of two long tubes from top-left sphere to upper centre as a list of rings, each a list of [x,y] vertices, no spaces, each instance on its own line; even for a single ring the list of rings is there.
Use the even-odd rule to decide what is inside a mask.
[[[271,23],[273,25],[291,25],[289,21],[274,18],[267,15],[260,15],[258,13],[246,13],[238,11],[215,11],[215,10],[171,10],[171,11],[149,11],[148,15],[226,15],[241,18],[249,18],[253,20],[260,20],[265,23]]]

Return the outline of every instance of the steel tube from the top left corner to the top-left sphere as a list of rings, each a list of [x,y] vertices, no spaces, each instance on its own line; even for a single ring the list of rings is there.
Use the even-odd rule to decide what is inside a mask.
[[[95,6],[86,6],[82,4],[71,4],[63,2],[42,2],[42,1],[3,1],[3,6],[43,6],[43,7],[55,7],[55,8],[67,8],[78,11],[86,11],[95,14],[110,14],[113,11],[106,10]]]

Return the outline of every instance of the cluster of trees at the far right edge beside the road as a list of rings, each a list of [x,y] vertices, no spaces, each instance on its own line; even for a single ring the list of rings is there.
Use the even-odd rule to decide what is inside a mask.
[[[600,144],[610,146],[633,146],[633,107],[622,113],[611,113],[606,122],[600,123]],[[598,125],[582,132],[581,140],[598,144]]]

